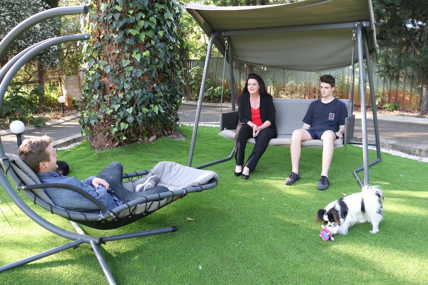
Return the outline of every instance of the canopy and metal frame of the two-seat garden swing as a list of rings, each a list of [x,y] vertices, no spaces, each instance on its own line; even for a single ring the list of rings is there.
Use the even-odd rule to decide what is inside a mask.
[[[232,70],[234,61],[310,72],[330,71],[351,65],[354,68],[354,64],[357,62],[361,67],[359,68],[359,82],[363,83],[365,79],[368,79],[369,83],[375,131],[375,143],[370,145],[376,147],[377,159],[372,162],[368,161],[369,144],[367,142],[366,90],[364,84],[359,86],[362,142],[350,140],[349,143],[362,144],[363,166],[354,170],[353,174],[361,187],[369,184],[369,166],[381,161],[372,70],[369,64],[369,55],[377,49],[371,0],[305,0],[288,4],[236,7],[214,7],[190,3],[186,6],[186,10],[201,26],[202,30],[210,36],[188,166],[192,165],[204,95],[203,90],[207,80],[212,46],[215,45],[223,53],[225,59],[227,56],[229,62],[232,102],[234,102]],[[329,17],[325,17],[326,14]],[[354,38],[352,45],[350,45],[351,41],[349,40],[351,32]],[[357,43],[357,52],[355,52],[355,43]],[[364,58],[367,62],[367,76],[365,76],[364,68],[362,68]],[[351,80],[354,85],[354,69],[352,72]],[[353,100],[353,93],[350,99]],[[307,99],[302,99],[302,101],[304,100]],[[232,108],[232,112],[235,111],[234,105]],[[350,106],[348,109],[349,112],[352,112]],[[301,127],[301,122],[299,127]],[[232,157],[233,153],[234,150],[228,158],[195,168],[204,168],[214,163],[226,161]],[[363,171],[363,180],[357,174],[359,171]]]

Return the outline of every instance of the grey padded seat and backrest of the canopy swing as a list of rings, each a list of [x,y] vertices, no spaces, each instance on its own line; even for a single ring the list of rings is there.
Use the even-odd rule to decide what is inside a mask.
[[[274,105],[276,110],[275,124],[277,125],[278,137],[269,141],[270,146],[281,145],[290,146],[291,135],[295,129],[300,129],[303,126],[303,117],[309,108],[309,104],[316,99],[280,99],[274,98]],[[340,99],[344,102],[347,110],[350,108],[350,101],[348,99]],[[351,107],[352,108],[352,107]],[[355,115],[352,115],[355,117]],[[334,147],[341,147],[347,144],[354,135],[354,124],[348,123],[350,117],[345,120],[345,137],[347,141],[338,138],[334,141]],[[352,120],[354,122],[354,120]],[[220,136],[234,139],[236,126],[238,125],[238,111],[225,112],[221,114],[220,122]],[[255,144],[256,140],[250,138],[247,143]],[[308,140],[301,143],[302,147],[323,147],[322,140]]]

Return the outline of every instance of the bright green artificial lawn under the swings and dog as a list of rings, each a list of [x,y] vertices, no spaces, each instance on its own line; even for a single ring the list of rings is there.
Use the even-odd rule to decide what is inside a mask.
[[[186,140],[160,138],[150,143],[95,152],[87,141],[63,151],[70,175],[95,175],[110,162],[125,171],[149,170],[159,161],[187,165],[192,127],[182,127]],[[199,127],[192,166],[227,157],[233,141],[218,128]],[[247,146],[247,155],[252,146]],[[205,169],[218,173],[214,189],[183,199],[122,228],[102,231],[82,227],[91,235],[112,235],[177,226],[178,231],[112,241],[102,252],[118,284],[150,285],[271,285],[271,284],[428,284],[428,164],[382,153],[371,166],[369,181],[385,195],[380,231],[358,224],[335,241],[322,241],[316,212],[342,193],[360,191],[353,171],[361,167],[362,149],[335,150],[330,187],[316,189],[321,149],[305,148],[301,179],[283,184],[291,171],[289,148],[269,147],[256,171],[235,177],[234,159]],[[369,160],[376,159],[369,150]],[[362,171],[359,172],[362,175]],[[0,265],[14,262],[67,242],[33,223],[0,190]],[[12,210],[5,204],[8,203]],[[60,217],[43,217],[71,230]],[[191,218],[194,221],[190,221]],[[0,284],[107,284],[89,245],[81,245],[0,273]]]

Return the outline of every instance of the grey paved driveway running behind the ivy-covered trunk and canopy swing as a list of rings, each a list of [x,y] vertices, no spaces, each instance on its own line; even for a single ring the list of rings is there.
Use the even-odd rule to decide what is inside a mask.
[[[203,103],[199,123],[219,124],[221,112],[232,110],[230,104]],[[194,123],[197,104],[193,102],[184,103],[179,112],[180,122]],[[355,111],[356,126],[354,140],[361,141],[361,113]],[[428,157],[428,118],[417,118],[403,115],[378,114],[378,126],[381,149],[395,150],[405,154],[419,157]],[[6,153],[17,153],[18,147],[16,136],[8,130],[0,131],[1,142]],[[69,116],[60,121],[48,123],[46,127],[26,127],[22,139],[49,135],[53,139],[55,147],[65,147],[74,142],[85,139],[80,132],[78,116]],[[374,126],[372,114],[367,113],[367,138],[368,142],[374,141]]]

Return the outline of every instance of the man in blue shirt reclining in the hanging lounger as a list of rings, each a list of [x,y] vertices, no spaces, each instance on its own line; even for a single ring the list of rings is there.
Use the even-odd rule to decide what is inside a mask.
[[[109,210],[145,195],[168,191],[165,186],[155,186],[159,181],[159,176],[155,175],[122,183],[123,167],[118,162],[111,163],[97,176],[81,181],[76,177],[64,176],[57,172],[58,155],[48,136],[24,140],[18,149],[18,155],[36,173],[40,182],[76,186],[95,197]],[[93,202],[70,189],[46,188],[45,192],[55,205],[64,209],[83,212],[100,210]]]

